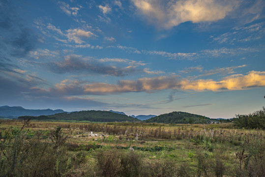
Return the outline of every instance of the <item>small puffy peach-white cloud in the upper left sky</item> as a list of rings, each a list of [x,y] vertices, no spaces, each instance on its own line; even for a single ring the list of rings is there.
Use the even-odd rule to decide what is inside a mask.
[[[81,38],[91,38],[91,37],[97,37],[97,35],[93,34],[90,31],[85,31],[82,29],[68,29],[66,36],[68,37],[69,41],[75,41],[77,44],[84,43]]]

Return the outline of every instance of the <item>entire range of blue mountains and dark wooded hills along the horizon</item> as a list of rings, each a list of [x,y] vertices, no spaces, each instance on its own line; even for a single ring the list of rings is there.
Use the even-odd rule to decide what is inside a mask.
[[[38,120],[73,120],[73,121],[94,121],[94,122],[113,122],[113,121],[145,121],[157,123],[211,123],[212,121],[226,121],[223,118],[211,119],[205,116],[186,113],[172,112],[168,114],[127,116],[123,112],[117,111],[78,111],[65,112],[63,110],[30,110],[20,106],[0,106],[0,118],[32,118]]]

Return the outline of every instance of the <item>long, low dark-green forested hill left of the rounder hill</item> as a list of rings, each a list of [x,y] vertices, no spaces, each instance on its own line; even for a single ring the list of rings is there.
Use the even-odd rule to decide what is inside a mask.
[[[88,120],[93,122],[122,122],[122,121],[141,121],[126,115],[112,113],[109,111],[79,111],[72,113],[59,113],[51,116],[21,116],[19,119],[31,118],[35,120]]]

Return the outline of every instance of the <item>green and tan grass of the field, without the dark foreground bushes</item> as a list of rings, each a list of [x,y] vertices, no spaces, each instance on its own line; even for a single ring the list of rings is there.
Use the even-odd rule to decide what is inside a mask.
[[[255,155],[258,151],[264,152],[262,149],[258,149],[259,146],[256,145],[258,145],[257,142],[262,143],[265,140],[264,130],[233,129],[231,124],[227,123],[215,124],[213,127],[207,124],[91,123],[49,120],[31,121],[23,130],[26,133],[25,139],[23,139],[24,143],[12,144],[13,140],[16,139],[15,134],[21,126],[21,121],[1,120],[1,145],[2,148],[6,148],[4,152],[11,153],[12,150],[8,148],[12,148],[14,145],[25,145],[24,148],[17,148],[25,149],[27,148],[27,142],[33,141],[38,134],[41,134],[41,140],[37,142],[37,145],[42,147],[42,143],[49,143],[47,149],[51,152],[48,154],[50,154],[51,160],[54,158],[54,161],[49,161],[49,163],[54,164],[54,167],[51,167],[50,170],[55,170],[56,174],[54,176],[71,176],[80,173],[87,174],[88,177],[94,177],[94,172],[96,176],[102,176],[102,169],[97,163],[98,154],[104,152],[106,154],[110,153],[108,155],[114,155],[112,153],[116,153],[117,150],[117,156],[113,158],[129,158],[130,155],[134,155],[132,158],[140,158],[141,173],[147,173],[143,175],[145,177],[148,177],[148,174],[149,176],[157,176],[163,172],[164,167],[166,169],[166,166],[176,170],[172,171],[175,176],[177,171],[180,173],[180,170],[184,170],[181,171],[183,173],[185,170],[188,171],[190,176],[197,176],[198,159],[200,158],[206,164],[203,167],[206,168],[208,176],[215,176],[215,164],[218,162],[224,164],[225,176],[233,177],[236,176],[236,173],[241,173],[235,153],[242,151],[243,148],[246,149],[245,153],[249,155]],[[51,137],[53,137],[53,132],[58,126],[62,130],[61,137],[67,136],[67,139],[57,149],[57,153],[53,154],[54,142]],[[157,132],[161,131],[161,133],[164,131],[164,134],[171,133],[171,138],[162,136],[163,133],[161,136],[151,136],[155,130]],[[174,136],[174,130],[181,135],[180,139]],[[91,134],[91,131],[93,134]],[[10,140],[5,140],[6,134],[10,135]],[[136,134],[138,134],[138,140]],[[134,148],[134,154],[129,154],[130,147]],[[34,146],[30,150],[33,149]],[[5,159],[3,153],[0,155],[1,159]],[[257,157],[255,156],[255,158]],[[27,158],[31,159],[31,157]],[[218,158],[221,161],[216,161]],[[252,155],[249,159],[250,165],[253,163],[253,158]],[[117,162],[121,162],[120,159]],[[23,171],[23,169],[19,169],[22,167],[17,168]],[[256,169],[256,171],[259,171],[259,169]],[[80,174],[79,176],[82,176]]]

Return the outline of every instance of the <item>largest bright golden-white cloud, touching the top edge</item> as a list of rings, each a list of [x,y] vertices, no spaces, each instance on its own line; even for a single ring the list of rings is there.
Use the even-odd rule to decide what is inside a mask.
[[[171,29],[184,22],[216,22],[230,16],[259,18],[262,0],[131,0],[141,18],[159,28]],[[260,4],[260,5],[259,5]],[[249,20],[249,21],[251,21]]]

